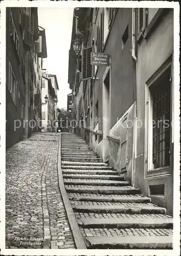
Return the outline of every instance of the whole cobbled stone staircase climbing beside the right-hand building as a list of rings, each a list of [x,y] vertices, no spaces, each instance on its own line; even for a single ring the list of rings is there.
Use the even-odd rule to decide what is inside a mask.
[[[172,249],[173,219],[71,133],[61,134],[65,189],[88,249]]]

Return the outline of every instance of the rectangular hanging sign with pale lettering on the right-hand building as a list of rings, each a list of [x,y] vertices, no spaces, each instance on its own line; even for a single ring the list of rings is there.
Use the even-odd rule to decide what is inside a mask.
[[[110,54],[102,52],[91,52],[92,66],[110,66]]]

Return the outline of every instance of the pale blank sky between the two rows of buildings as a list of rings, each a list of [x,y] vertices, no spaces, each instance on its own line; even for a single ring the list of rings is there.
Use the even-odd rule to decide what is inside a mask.
[[[72,32],[73,8],[38,8],[38,25],[45,29],[47,58],[43,69],[57,75],[58,107],[67,109],[68,51]]]

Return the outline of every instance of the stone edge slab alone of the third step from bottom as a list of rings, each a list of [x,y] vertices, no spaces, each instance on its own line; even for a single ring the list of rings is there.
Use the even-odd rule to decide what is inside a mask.
[[[159,206],[141,205],[138,206],[121,206],[121,205],[74,205],[74,211],[78,212],[112,212],[122,214],[166,214],[166,209]]]

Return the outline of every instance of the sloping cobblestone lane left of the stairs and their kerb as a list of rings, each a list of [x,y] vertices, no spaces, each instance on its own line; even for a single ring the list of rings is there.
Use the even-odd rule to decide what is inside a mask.
[[[75,248],[58,186],[58,145],[59,134],[37,133],[7,150],[6,248]]]

